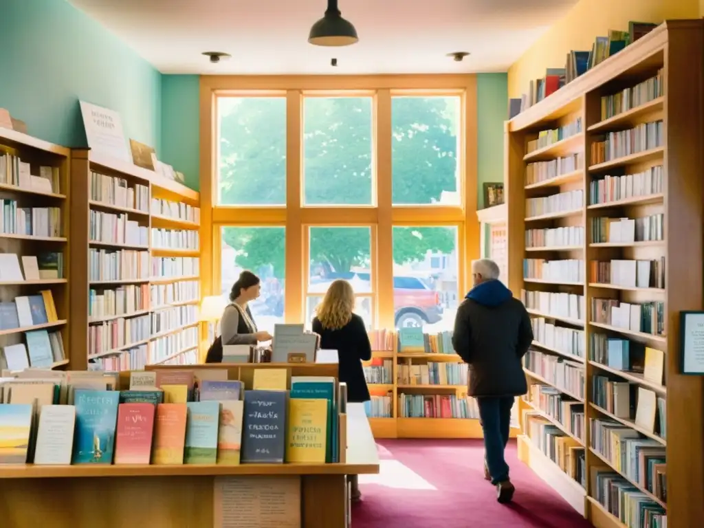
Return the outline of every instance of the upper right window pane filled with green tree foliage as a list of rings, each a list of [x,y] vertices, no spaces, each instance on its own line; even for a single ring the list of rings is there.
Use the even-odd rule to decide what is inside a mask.
[[[460,97],[391,99],[394,205],[459,205]]]

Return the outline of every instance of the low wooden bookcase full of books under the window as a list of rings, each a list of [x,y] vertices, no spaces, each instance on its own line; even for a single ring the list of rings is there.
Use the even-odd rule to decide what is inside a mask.
[[[369,422],[375,438],[482,438],[476,403],[473,398],[464,403],[467,380],[459,375],[463,368],[460,356],[443,351],[441,344],[429,346],[426,351],[399,351],[398,334],[387,334],[388,346],[375,346],[372,337],[372,348],[389,350],[373,351],[372,360],[364,365],[372,395],[367,409],[372,410]],[[433,337],[427,340],[442,341]],[[512,429],[511,436],[517,432]]]

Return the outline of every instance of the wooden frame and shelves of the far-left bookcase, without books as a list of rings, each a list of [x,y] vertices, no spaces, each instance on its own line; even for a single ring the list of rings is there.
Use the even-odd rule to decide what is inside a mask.
[[[3,163],[14,163],[19,159],[23,163],[29,163],[32,176],[40,174],[40,167],[54,168],[58,174],[58,189],[51,191],[38,189],[23,185],[12,184],[4,181],[0,184],[0,199],[13,200],[18,208],[58,208],[61,217],[61,236],[38,236],[34,234],[17,234],[10,229],[4,229],[0,233],[0,252],[14,253],[18,257],[20,269],[25,280],[2,280],[0,281],[0,301],[4,303],[13,302],[18,296],[41,295],[41,291],[51,291],[56,306],[58,320],[46,322],[45,324],[31,325],[17,328],[4,328],[0,330],[0,347],[10,346],[18,343],[26,343],[25,332],[46,329],[49,332],[58,331],[63,344],[63,358],[52,363],[51,368],[62,367],[70,360],[70,341],[68,332],[69,319],[69,295],[68,295],[68,254],[69,249],[69,222],[68,208],[68,174],[70,170],[70,151],[62,146],[44,142],[22,132],[0,128],[0,174],[5,172],[4,177],[8,177],[7,168],[3,169]],[[16,168],[15,168],[16,170]],[[9,218],[6,213],[6,218]],[[16,226],[15,226],[16,227]],[[63,275],[56,279],[26,279],[27,272],[22,262],[23,256],[38,256],[40,253],[62,253],[63,254]],[[4,318],[6,315],[3,316]],[[51,319],[51,318],[50,318]],[[4,365],[3,353],[0,351],[0,366]]]

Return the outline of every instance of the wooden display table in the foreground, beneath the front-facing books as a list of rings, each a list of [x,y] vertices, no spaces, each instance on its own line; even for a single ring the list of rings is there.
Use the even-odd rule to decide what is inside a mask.
[[[2,465],[0,526],[237,526],[216,523],[216,481],[220,477],[251,477],[252,482],[261,482],[258,477],[266,476],[300,478],[301,527],[346,527],[345,475],[379,472],[377,448],[363,405],[349,403],[347,410],[348,448],[344,464]]]

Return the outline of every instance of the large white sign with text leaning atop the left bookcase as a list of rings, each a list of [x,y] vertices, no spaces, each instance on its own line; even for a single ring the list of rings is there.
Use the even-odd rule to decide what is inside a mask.
[[[96,153],[132,163],[125,133],[122,132],[120,114],[85,101],[80,103],[90,149]]]

